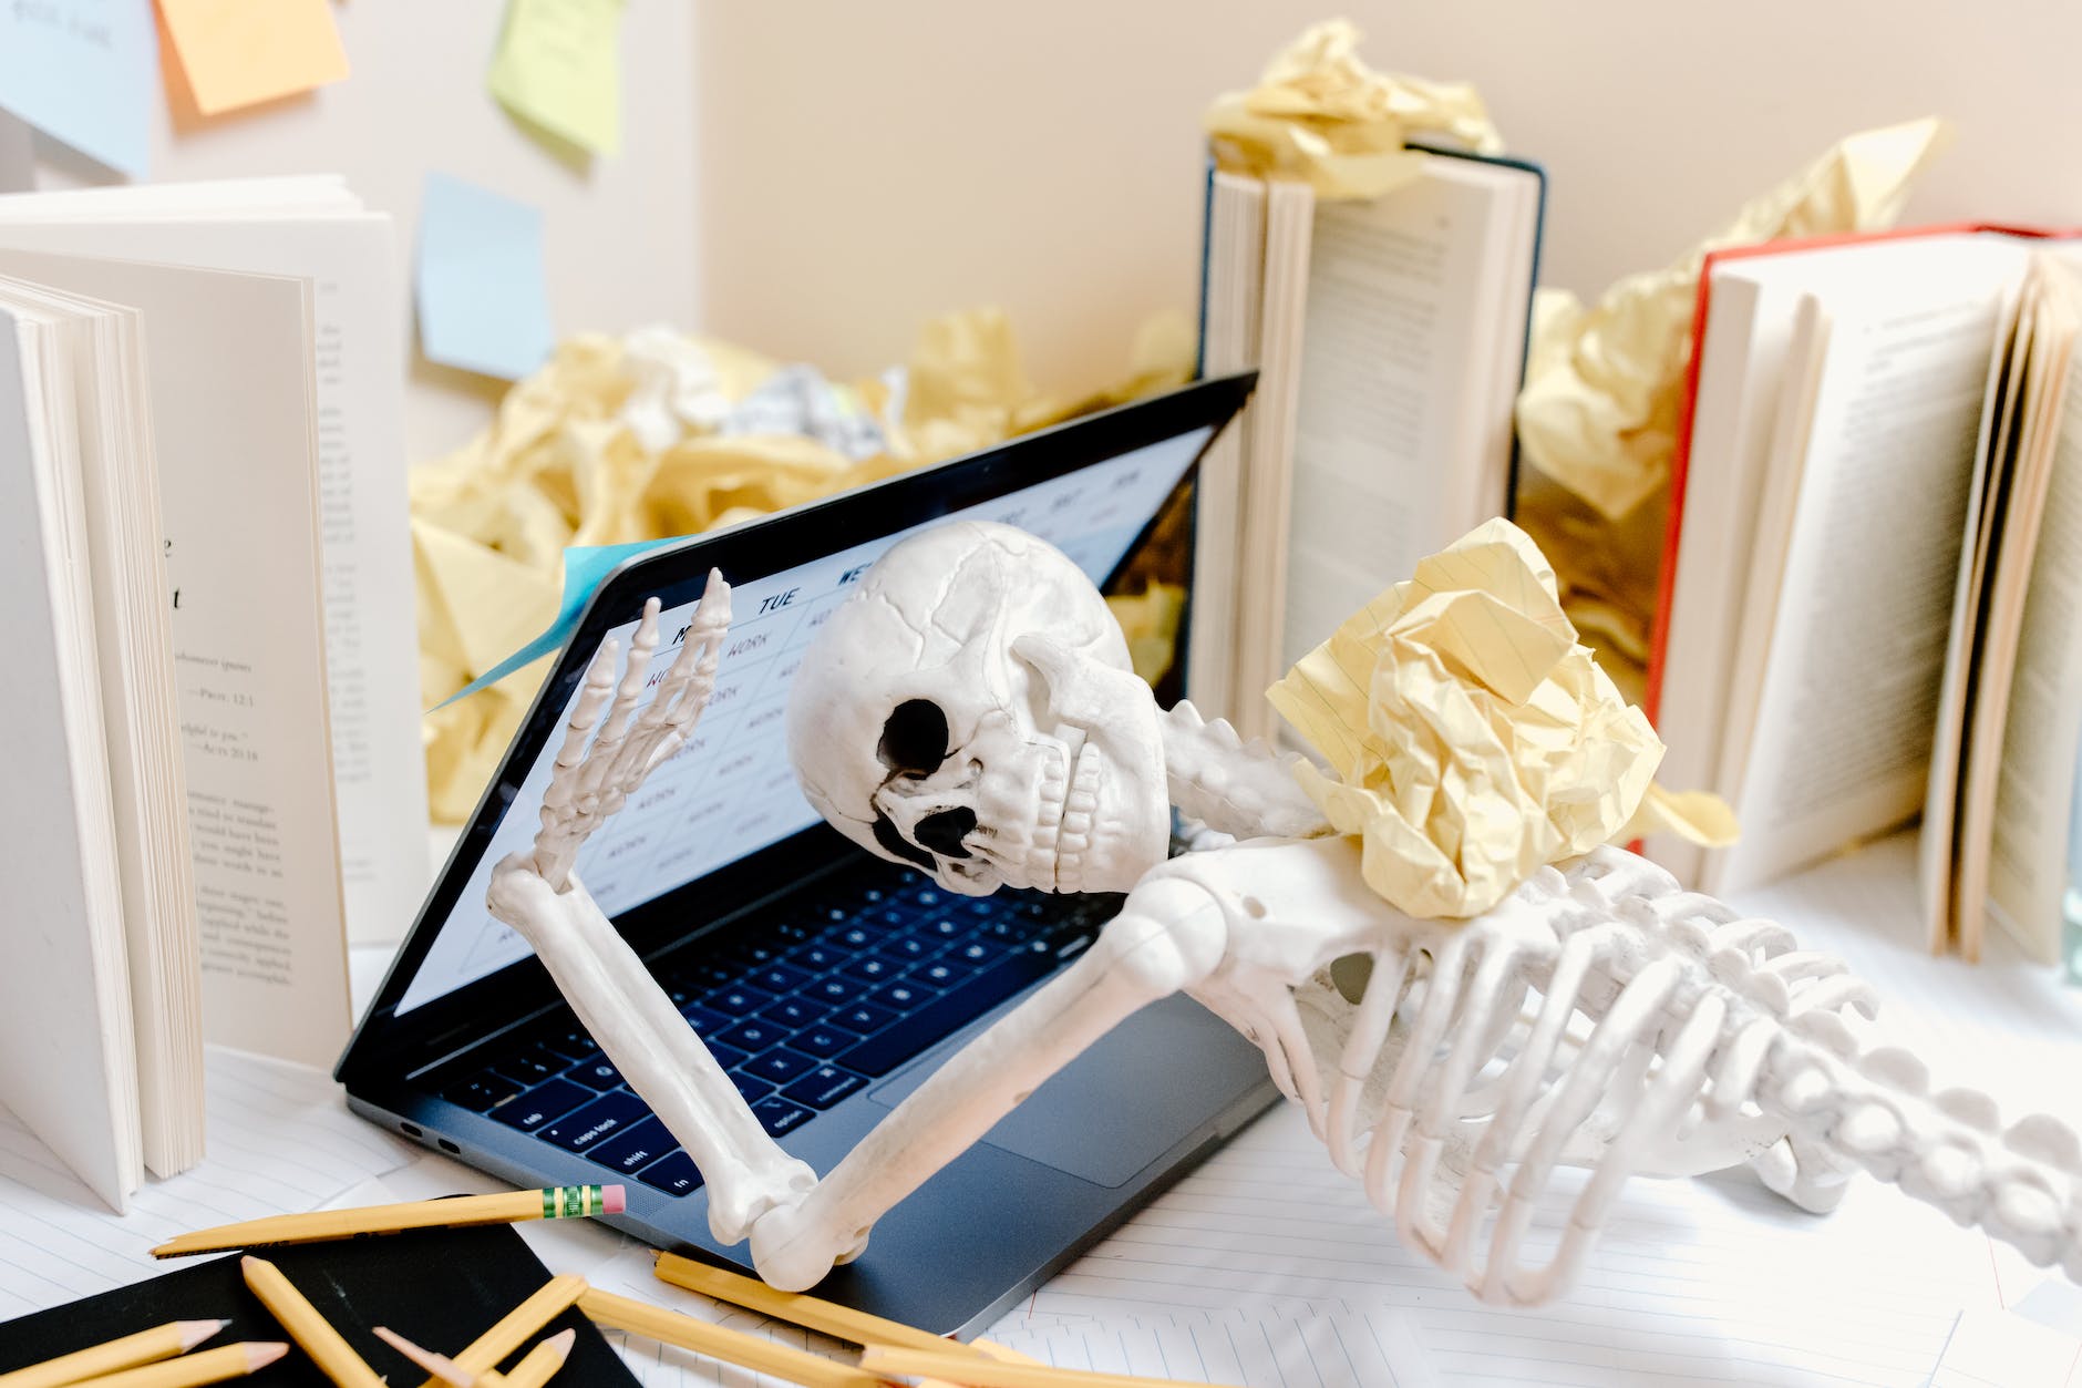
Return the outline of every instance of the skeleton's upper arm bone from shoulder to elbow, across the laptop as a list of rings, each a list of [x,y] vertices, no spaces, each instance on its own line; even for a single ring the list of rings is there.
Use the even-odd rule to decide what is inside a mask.
[[[997,1119],[1137,1009],[1222,959],[1226,925],[1205,890],[1176,877],[1135,888],[1068,969],[954,1052],[804,1200],[760,1215],[752,1261],[770,1286],[804,1290],[858,1253],[870,1228]]]

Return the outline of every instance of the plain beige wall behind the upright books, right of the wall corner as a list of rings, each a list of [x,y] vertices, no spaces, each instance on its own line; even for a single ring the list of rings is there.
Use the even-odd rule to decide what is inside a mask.
[[[1189,308],[1197,117],[1316,4],[885,0],[700,8],[708,327],[841,371],[933,311],[1014,311],[1043,383]],[[1838,133],[1959,142],[1915,219],[2082,221],[2082,6],[2057,0],[1366,0],[1376,67],[1480,83],[1553,175],[1547,281],[1680,252]]]

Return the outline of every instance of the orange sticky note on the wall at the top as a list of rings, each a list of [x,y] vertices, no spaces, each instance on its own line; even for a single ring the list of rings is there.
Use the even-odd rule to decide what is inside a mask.
[[[327,0],[158,0],[158,13],[202,115],[348,75]]]

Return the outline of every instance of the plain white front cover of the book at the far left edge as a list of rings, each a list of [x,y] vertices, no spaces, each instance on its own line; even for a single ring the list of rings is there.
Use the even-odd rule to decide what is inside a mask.
[[[75,381],[90,331],[0,302],[0,1105],[121,1211],[144,1152]]]

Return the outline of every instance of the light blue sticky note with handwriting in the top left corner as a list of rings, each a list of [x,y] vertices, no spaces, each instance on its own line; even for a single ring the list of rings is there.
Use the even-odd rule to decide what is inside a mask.
[[[52,140],[144,177],[154,96],[150,0],[0,2],[0,106]]]

